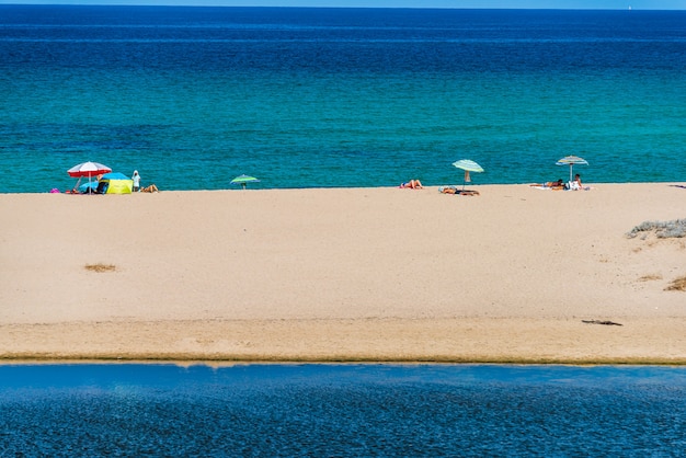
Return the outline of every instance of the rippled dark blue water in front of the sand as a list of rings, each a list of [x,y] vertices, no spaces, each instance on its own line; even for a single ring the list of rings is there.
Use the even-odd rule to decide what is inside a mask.
[[[683,456],[686,368],[0,366],[0,456]]]

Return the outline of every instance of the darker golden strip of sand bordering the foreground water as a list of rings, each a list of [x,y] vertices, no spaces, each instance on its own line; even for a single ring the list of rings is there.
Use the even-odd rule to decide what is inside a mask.
[[[31,344],[0,339],[0,364],[22,363],[397,363],[531,365],[685,366],[684,342],[660,335],[679,333],[686,318],[626,318],[622,328],[587,324],[580,319],[174,321],[3,325],[3,335],[22,335]],[[11,328],[11,333],[8,333]],[[610,329],[614,328],[614,329]],[[153,331],[152,331],[153,330]],[[511,331],[517,330],[516,335]],[[296,331],[296,332],[294,332]],[[84,340],[83,333],[91,335]],[[261,342],[261,332],[279,343]],[[554,333],[545,346],[537,336]],[[320,339],[327,335],[325,341]],[[182,336],[180,339],[180,336]],[[230,335],[227,337],[227,335]],[[55,336],[59,336],[56,339]],[[355,337],[351,342],[350,336]],[[125,337],[126,345],[121,340]],[[252,340],[251,340],[252,339]],[[603,343],[580,354],[584,341]],[[39,341],[41,344],[35,342]],[[155,343],[150,343],[155,341]],[[382,341],[382,342],[381,342]],[[439,348],[432,350],[433,344]],[[651,350],[663,346],[658,356]],[[493,347],[498,350],[493,350]],[[134,350],[137,347],[140,350]],[[336,351],[330,348],[336,347]],[[489,347],[492,353],[483,352]],[[621,351],[617,348],[621,347]],[[318,350],[319,348],[319,350]],[[507,348],[507,350],[503,350]]]

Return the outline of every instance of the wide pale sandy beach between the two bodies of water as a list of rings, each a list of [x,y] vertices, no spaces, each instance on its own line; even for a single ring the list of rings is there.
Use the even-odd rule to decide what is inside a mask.
[[[592,186],[3,194],[0,359],[686,364],[686,190]]]

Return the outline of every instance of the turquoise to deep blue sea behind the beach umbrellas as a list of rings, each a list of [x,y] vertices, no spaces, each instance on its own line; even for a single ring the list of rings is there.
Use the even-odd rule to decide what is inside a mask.
[[[0,192],[686,180],[686,11],[0,5]]]

